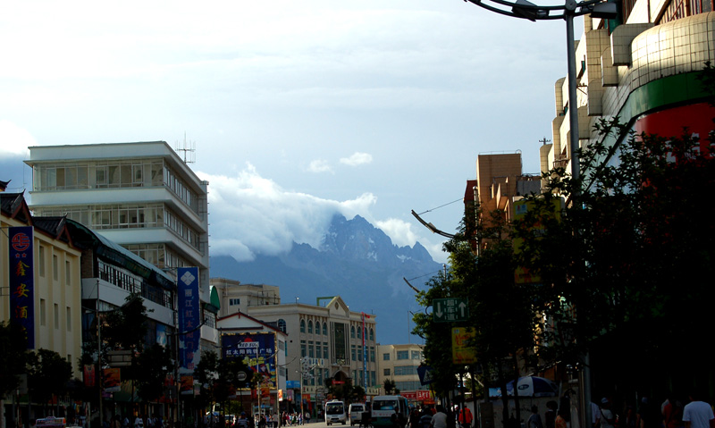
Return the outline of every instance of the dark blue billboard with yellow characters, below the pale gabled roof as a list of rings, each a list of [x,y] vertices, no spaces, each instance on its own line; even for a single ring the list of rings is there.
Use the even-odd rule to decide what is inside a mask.
[[[224,334],[221,347],[224,358],[239,358],[254,373],[261,375],[263,390],[276,389],[276,348],[273,333]]]

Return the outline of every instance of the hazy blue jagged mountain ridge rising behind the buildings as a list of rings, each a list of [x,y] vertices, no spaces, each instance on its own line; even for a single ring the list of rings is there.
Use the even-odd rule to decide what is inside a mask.
[[[416,310],[415,292],[403,278],[426,274],[413,284],[419,287],[440,269],[442,264],[419,242],[398,247],[359,215],[352,220],[335,215],[319,248],[293,243],[288,253],[257,256],[252,262],[211,257],[212,277],[277,285],[284,302],[300,298],[312,304],[317,297],[341,296],[350,310],[377,315],[381,343],[414,340],[408,337],[408,311]]]

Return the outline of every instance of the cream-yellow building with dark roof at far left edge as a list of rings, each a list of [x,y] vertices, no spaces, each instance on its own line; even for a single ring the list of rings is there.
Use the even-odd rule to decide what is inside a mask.
[[[18,227],[28,229],[16,235]],[[65,220],[33,216],[22,193],[0,191],[0,229],[0,321],[21,323],[29,330],[30,349],[57,352],[80,378],[81,252]],[[16,256],[20,249],[31,253],[31,261],[27,254]]]

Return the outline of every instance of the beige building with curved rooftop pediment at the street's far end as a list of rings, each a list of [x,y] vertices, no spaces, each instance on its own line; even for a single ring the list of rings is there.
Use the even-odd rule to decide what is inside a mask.
[[[222,297],[221,313],[224,309],[228,313],[223,317],[245,313],[288,334],[286,379],[290,385],[300,385],[301,373],[308,368],[302,392],[304,404],[311,409],[322,406],[328,378],[337,382],[349,379],[363,386],[367,395],[379,394],[374,315],[350,311],[339,296],[316,298],[315,306],[298,301],[278,305],[273,304],[281,302],[277,287],[223,278],[212,278],[211,283]]]

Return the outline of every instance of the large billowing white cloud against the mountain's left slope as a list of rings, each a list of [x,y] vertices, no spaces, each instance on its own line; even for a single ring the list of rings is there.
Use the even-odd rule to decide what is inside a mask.
[[[371,193],[336,201],[283,189],[251,164],[236,176],[198,176],[209,182],[211,254],[239,261],[282,254],[293,242],[318,248],[334,214],[371,218],[376,202]]]

